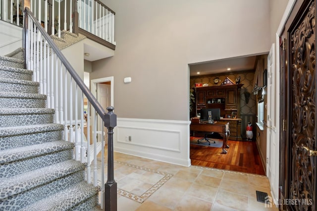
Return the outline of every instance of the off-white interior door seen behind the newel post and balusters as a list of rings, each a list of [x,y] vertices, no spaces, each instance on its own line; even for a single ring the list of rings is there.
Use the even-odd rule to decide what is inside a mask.
[[[103,84],[98,83],[97,84],[97,101],[103,106],[103,108],[106,110],[108,106],[110,106],[110,92],[111,86],[110,84]],[[106,110],[107,111],[107,110]],[[107,128],[104,126],[104,132],[105,132],[105,141],[107,140]],[[102,124],[101,124],[101,118],[98,115],[97,119],[97,130],[101,131]],[[98,140],[101,140],[101,133],[98,133]]]

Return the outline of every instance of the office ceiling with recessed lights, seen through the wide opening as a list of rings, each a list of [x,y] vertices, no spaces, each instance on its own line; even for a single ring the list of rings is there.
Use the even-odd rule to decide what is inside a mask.
[[[190,76],[253,70],[255,69],[255,63],[256,55],[191,64]],[[230,68],[230,70],[227,70],[227,68]],[[200,72],[200,74],[197,72]]]

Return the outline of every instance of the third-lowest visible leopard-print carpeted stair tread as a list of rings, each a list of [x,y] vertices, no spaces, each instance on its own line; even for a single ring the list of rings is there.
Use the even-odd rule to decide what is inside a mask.
[[[26,147],[13,148],[0,151],[0,164],[32,158],[66,149],[72,149],[74,144],[66,141],[54,141]]]

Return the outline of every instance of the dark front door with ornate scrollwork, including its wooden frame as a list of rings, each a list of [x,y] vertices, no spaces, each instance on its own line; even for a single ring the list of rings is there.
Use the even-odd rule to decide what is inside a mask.
[[[297,0],[280,36],[280,209],[316,211],[316,2]],[[310,151],[312,150],[312,151]]]

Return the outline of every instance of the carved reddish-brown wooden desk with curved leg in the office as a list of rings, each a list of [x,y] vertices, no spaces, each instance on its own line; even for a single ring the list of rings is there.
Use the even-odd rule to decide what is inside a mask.
[[[190,130],[219,133],[219,135],[223,139],[222,154],[227,154],[227,151],[224,148],[229,148],[229,146],[227,145],[227,141],[230,135],[229,122],[217,122],[214,124],[191,123]]]

